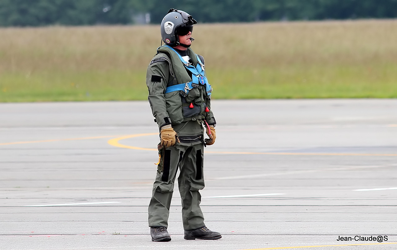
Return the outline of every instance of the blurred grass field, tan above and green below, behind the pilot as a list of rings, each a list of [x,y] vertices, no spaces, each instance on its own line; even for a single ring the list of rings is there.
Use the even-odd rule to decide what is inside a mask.
[[[397,20],[195,25],[213,98],[396,98]],[[0,28],[0,102],[146,100],[159,26]]]

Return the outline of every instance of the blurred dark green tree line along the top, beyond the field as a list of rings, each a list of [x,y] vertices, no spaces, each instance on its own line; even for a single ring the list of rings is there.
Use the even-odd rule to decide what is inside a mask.
[[[199,23],[397,17],[397,0],[0,0],[0,26],[159,24],[170,8]]]

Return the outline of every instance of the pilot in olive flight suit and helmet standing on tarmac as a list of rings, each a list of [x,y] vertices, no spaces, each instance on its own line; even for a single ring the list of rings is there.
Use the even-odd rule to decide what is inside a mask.
[[[200,208],[204,147],[215,142],[216,121],[204,58],[190,48],[196,23],[185,11],[170,9],[160,27],[165,45],[157,49],[147,68],[148,100],[160,131],[157,175],[148,207],[152,241],[171,241],[167,227],[178,170],[184,239],[222,237],[206,227]]]

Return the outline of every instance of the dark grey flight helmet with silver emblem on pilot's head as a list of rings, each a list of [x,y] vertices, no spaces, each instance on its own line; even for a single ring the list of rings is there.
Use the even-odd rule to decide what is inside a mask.
[[[175,47],[179,45],[177,34],[186,35],[193,30],[196,23],[197,21],[185,11],[170,9],[161,22],[161,38],[167,45]]]

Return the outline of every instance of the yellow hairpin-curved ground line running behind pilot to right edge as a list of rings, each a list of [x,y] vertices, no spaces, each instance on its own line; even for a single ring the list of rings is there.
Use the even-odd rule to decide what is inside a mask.
[[[140,148],[134,146],[128,146],[119,143],[119,140],[124,140],[133,137],[139,136],[147,136],[147,135],[154,135],[158,133],[146,133],[146,134],[131,134],[127,136],[122,136],[118,138],[114,138],[108,140],[108,144],[119,147],[119,148],[129,148],[129,149],[136,149],[136,150],[148,150],[148,151],[158,151],[155,148]],[[397,156],[397,153],[287,153],[287,152],[272,152],[272,153],[263,153],[263,152],[222,152],[222,151],[206,151],[206,153],[218,153],[218,154],[235,154],[235,155],[348,155],[348,156]]]

